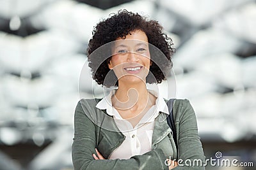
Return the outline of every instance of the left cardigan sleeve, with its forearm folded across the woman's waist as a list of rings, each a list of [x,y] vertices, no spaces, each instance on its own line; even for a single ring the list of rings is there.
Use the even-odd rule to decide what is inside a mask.
[[[166,157],[161,149],[152,150],[130,159],[95,160],[97,134],[95,124],[86,116],[81,101],[76,106],[74,116],[74,141],[72,144],[72,161],[75,170],[82,169],[168,169],[164,165]]]

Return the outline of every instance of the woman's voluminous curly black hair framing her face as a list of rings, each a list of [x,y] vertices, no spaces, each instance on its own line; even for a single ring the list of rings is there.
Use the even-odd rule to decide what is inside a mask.
[[[105,85],[110,87],[113,85],[118,86],[118,81],[113,74],[114,80],[104,81],[109,71],[112,71],[108,67],[109,60],[111,59],[111,52],[97,53],[91,55],[97,48],[111,41],[115,41],[117,38],[124,38],[127,34],[131,34],[132,31],[141,30],[145,32],[148,38],[148,43],[155,46],[155,49],[149,46],[150,60],[152,65],[150,66],[150,72],[146,81],[147,83],[161,83],[166,80],[167,71],[172,68],[173,62],[171,60],[175,48],[172,47],[172,39],[169,38],[164,32],[163,27],[156,20],[148,20],[147,17],[142,17],[138,13],[132,13],[127,10],[120,10],[118,13],[109,15],[109,18],[99,22],[92,31],[92,38],[88,44],[88,66],[92,70],[93,79],[97,81],[99,85]],[[157,52],[156,48],[161,51],[161,54]],[[97,50],[96,50],[97,51]],[[108,59],[102,57],[109,53]],[[159,60],[159,55],[164,55],[166,60]],[[157,60],[157,64],[156,64]],[[102,62],[103,61],[103,62]]]

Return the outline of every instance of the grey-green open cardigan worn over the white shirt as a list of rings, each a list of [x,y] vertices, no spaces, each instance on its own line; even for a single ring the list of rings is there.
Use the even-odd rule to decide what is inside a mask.
[[[100,99],[81,99],[74,117],[74,142],[72,160],[74,169],[168,169],[166,159],[182,159],[184,166],[178,169],[205,169],[204,166],[186,166],[191,160],[205,162],[204,151],[198,136],[195,111],[188,99],[175,99],[173,117],[177,131],[178,152],[172,137],[172,130],[167,124],[164,113],[159,112],[155,119],[152,136],[152,150],[130,159],[109,160],[111,153],[125,140],[124,134],[118,131],[113,117],[106,110],[99,110],[96,104]],[[92,154],[95,148],[106,160],[95,160]],[[97,154],[96,154],[97,155]],[[189,159],[189,160],[188,160]]]

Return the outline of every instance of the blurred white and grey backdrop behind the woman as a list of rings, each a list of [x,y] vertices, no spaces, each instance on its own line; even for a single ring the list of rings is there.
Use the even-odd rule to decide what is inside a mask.
[[[254,165],[207,169],[255,169],[255,0],[0,0],[0,169],[73,169],[74,110],[93,96],[89,70],[78,93],[88,40],[124,8],[173,39],[175,97],[195,109],[206,158]]]

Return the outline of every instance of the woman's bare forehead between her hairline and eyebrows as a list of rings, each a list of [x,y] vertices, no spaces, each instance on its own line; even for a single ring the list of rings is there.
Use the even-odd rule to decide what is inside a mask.
[[[141,30],[135,30],[135,31],[131,31],[131,34],[127,34],[124,38],[116,38],[115,44],[119,45],[121,43],[127,43],[127,44],[138,44],[138,43],[148,43],[148,38],[147,35],[145,34],[145,32],[141,31]]]

